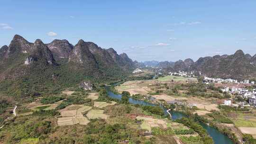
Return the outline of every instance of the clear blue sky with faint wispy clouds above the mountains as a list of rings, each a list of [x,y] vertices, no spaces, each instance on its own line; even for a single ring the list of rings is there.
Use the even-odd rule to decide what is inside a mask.
[[[137,61],[256,54],[256,0],[2,0],[0,46],[79,39]]]

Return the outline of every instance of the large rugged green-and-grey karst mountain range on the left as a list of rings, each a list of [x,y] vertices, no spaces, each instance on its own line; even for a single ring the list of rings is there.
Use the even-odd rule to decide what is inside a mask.
[[[68,86],[83,80],[111,81],[134,68],[127,54],[117,54],[113,48],[102,49],[83,40],[76,45],[67,40],[44,44],[37,39],[30,43],[15,35],[9,46],[0,48],[1,88],[7,85],[18,88],[26,83],[37,90],[46,83]]]

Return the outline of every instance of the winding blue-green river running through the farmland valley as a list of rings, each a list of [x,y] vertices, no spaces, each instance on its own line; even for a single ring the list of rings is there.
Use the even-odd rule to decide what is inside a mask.
[[[108,92],[108,95],[110,98],[121,99],[121,97],[122,97],[122,95],[120,95],[120,94],[113,93],[108,86],[107,86],[107,92]],[[152,104],[152,103],[149,103],[149,102],[146,102],[143,100],[133,99],[133,98],[129,98],[129,103],[139,104],[139,105],[144,105],[144,106],[156,106],[155,104]],[[160,107],[164,109],[165,115],[168,115],[168,113],[166,112],[167,109],[164,108],[163,106],[160,106]],[[186,117],[181,112],[171,111],[170,113],[172,115],[173,120],[182,118],[182,117]],[[206,124],[203,124],[203,123],[201,123],[201,126],[207,130],[209,135],[212,137],[214,144],[234,144],[228,136],[223,135],[217,129],[215,129],[211,126],[208,126]]]

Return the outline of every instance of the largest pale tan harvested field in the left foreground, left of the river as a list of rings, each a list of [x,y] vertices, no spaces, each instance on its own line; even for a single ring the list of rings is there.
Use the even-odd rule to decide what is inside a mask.
[[[59,110],[62,117],[58,118],[58,126],[67,125],[87,125],[90,120],[87,117],[83,117],[83,112],[89,111],[91,107],[81,105],[70,105],[64,109]]]

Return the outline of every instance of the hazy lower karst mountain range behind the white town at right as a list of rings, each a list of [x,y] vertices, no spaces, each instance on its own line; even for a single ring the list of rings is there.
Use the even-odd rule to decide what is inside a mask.
[[[186,59],[175,63],[163,63],[165,64],[161,67],[164,72],[199,71],[208,77],[233,78],[237,80],[256,78],[256,55],[244,54],[242,50],[238,50],[231,55],[201,57],[196,62],[192,59]]]

